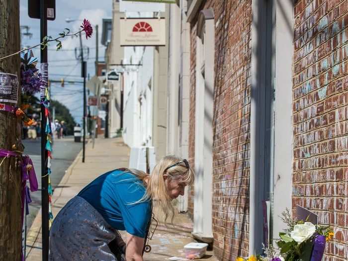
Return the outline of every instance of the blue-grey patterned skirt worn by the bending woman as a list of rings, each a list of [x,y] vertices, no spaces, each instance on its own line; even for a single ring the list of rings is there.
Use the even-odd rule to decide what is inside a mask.
[[[108,244],[121,237],[84,198],[72,198],[50,231],[50,261],[123,261]],[[118,249],[118,248],[117,248]],[[117,256],[117,257],[116,257]]]

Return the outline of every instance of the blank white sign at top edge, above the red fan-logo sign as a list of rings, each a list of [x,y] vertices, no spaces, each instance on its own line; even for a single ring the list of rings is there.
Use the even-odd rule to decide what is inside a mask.
[[[165,12],[166,4],[120,0],[120,12]]]

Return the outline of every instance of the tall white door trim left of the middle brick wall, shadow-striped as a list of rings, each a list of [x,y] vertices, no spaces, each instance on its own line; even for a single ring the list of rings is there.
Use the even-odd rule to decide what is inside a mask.
[[[192,235],[213,241],[213,107],[214,107],[214,20],[205,21],[202,39],[196,37],[195,184]],[[204,68],[204,72],[202,72]],[[204,78],[202,76],[204,73]]]

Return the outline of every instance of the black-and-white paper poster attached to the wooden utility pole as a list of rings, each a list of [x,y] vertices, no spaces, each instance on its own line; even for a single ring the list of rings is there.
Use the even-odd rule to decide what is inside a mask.
[[[17,103],[18,78],[14,74],[0,73],[0,101]]]

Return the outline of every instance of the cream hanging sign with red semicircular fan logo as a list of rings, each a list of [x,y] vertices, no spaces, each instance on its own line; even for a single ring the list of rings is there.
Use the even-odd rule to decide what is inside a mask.
[[[121,46],[165,46],[165,18],[121,18]]]

